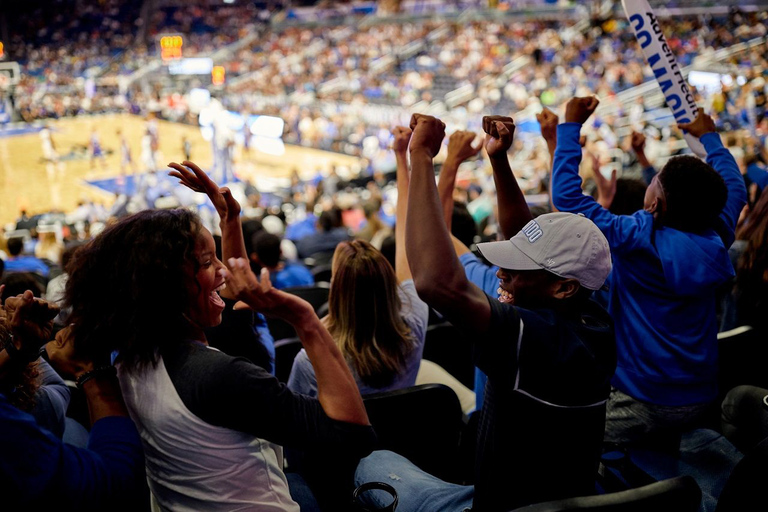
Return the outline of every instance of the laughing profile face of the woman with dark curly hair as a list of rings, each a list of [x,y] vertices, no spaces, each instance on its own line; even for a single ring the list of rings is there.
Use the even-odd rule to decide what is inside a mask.
[[[221,270],[224,264],[216,257],[216,245],[211,232],[205,228],[195,245],[193,257],[197,263],[197,272],[189,267],[187,286],[191,297],[187,316],[200,328],[215,327],[221,323],[224,301],[219,291],[224,288]]]

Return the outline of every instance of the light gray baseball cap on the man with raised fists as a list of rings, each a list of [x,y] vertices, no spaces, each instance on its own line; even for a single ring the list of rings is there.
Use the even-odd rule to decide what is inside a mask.
[[[547,213],[509,240],[477,244],[492,264],[509,270],[544,269],[584,288],[599,290],[611,273],[611,249],[600,229],[582,214]]]

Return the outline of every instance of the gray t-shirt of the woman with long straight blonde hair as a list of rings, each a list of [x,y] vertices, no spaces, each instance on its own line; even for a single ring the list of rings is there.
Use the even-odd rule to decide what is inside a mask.
[[[411,329],[411,336],[416,342],[414,349],[408,354],[405,364],[405,371],[395,376],[392,383],[383,388],[372,388],[366,386],[358,377],[354,368],[350,368],[352,376],[357,382],[361,395],[379,393],[382,391],[392,391],[395,389],[407,388],[416,384],[416,374],[419,373],[421,365],[421,355],[424,352],[424,337],[427,333],[427,322],[429,320],[429,306],[422,301],[416,294],[416,287],[413,280],[409,279],[400,283],[398,295],[402,302],[400,316]],[[288,378],[288,388],[296,393],[317,396],[317,379],[312,363],[309,361],[307,352],[304,349],[296,355],[291,368],[291,375]]]

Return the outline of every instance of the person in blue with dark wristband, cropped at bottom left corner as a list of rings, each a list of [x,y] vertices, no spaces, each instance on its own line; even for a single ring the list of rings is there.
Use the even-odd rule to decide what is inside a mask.
[[[46,345],[51,363],[77,380],[91,416],[89,448],[65,444],[14,407],[15,393],[7,391],[9,379],[26,371],[50,339],[56,308],[26,292],[9,298],[2,309],[13,333],[12,339],[3,336],[0,349],[3,505],[9,510],[148,510],[139,435],[108,354],[103,360],[76,355],[67,336]]]

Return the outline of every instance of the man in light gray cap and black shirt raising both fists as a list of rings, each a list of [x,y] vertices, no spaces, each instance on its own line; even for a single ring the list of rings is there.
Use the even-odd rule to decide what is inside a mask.
[[[498,300],[489,297],[467,280],[445,228],[432,170],[445,126],[418,114],[411,126],[406,249],[416,288],[467,331],[476,364],[488,375],[475,488],[431,478],[389,452],[363,459],[356,479],[396,487],[398,510],[406,512],[506,511],[591,494],[615,354],[610,318],[588,299],[610,272],[608,243],[583,217],[556,213],[531,220],[506,156],[514,124],[486,117],[485,148],[498,160],[502,230],[517,233],[478,245],[500,266]]]

